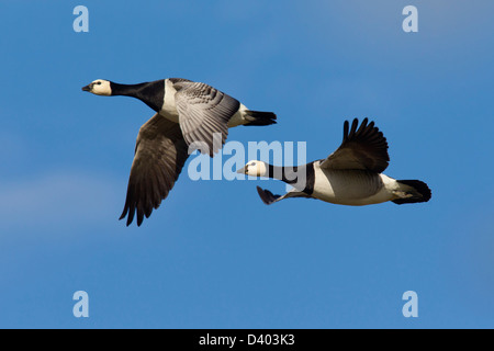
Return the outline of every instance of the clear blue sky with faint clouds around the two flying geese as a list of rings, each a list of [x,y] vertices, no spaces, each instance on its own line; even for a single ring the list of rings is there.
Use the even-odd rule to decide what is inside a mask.
[[[76,33],[76,5],[89,33]],[[418,9],[418,33],[402,10]],[[0,327],[493,328],[492,1],[0,1]],[[279,124],[229,140],[388,138],[425,204],[287,200],[272,180],[192,181],[137,228],[117,217],[154,112],[97,78],[210,83]],[[246,159],[247,161],[247,159]],[[72,294],[89,294],[75,318]],[[402,295],[418,294],[418,318]]]

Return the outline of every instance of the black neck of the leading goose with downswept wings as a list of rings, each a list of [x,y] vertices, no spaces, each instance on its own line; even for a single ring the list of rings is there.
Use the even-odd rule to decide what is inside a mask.
[[[124,95],[139,99],[156,112],[161,111],[165,98],[165,80],[156,80],[139,84],[119,84],[110,82],[112,95]]]

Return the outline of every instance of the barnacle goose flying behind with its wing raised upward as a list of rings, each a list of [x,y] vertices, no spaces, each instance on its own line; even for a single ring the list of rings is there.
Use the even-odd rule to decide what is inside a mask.
[[[238,173],[268,177],[293,186],[287,194],[273,195],[257,186],[262,202],[270,205],[289,197],[318,199],[340,205],[362,206],[392,201],[395,204],[427,202],[431,193],[419,180],[395,180],[382,172],[388,168],[388,141],[374,122],[353,120],[344,124],[339,148],[326,159],[299,167],[274,167],[249,161]]]

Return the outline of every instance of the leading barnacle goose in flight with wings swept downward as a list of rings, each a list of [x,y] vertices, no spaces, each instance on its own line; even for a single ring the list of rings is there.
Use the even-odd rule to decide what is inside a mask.
[[[156,114],[139,131],[131,168],[125,206],[120,219],[137,226],[149,217],[173,188],[189,150],[211,157],[223,146],[228,128],[270,125],[272,112],[248,110],[238,100],[201,82],[168,78],[139,84],[98,79],[82,88],[97,95],[139,99]],[[213,136],[220,136],[213,138]],[[218,139],[216,141],[216,139]]]

